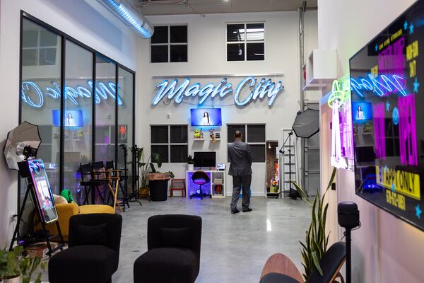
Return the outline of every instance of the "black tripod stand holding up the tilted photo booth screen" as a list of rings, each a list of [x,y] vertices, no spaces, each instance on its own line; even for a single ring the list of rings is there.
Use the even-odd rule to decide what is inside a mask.
[[[23,162],[25,162],[25,161],[23,161]],[[27,166],[28,166],[28,164],[27,164]],[[40,241],[34,240],[33,243],[26,243],[25,240],[23,240],[20,237],[20,235],[19,235],[20,223],[22,221],[22,215],[23,215],[23,212],[25,210],[25,204],[26,204],[26,202],[28,200],[28,195],[31,192],[31,195],[33,197],[33,200],[35,200],[35,197],[36,197],[33,179],[30,178],[30,177],[28,177],[27,178],[27,181],[28,181],[28,185],[27,185],[27,189],[26,189],[26,192],[25,192],[25,197],[23,197],[23,202],[22,202],[22,204],[20,206],[20,209],[19,209],[18,222],[16,223],[15,231],[13,231],[13,237],[12,237],[11,246],[9,247],[9,250],[12,250],[13,249],[13,244],[15,243],[15,241],[16,241],[16,243],[18,243],[18,245],[25,245],[25,246],[33,246],[33,244],[35,244],[37,242],[40,242]],[[45,225],[44,221],[42,220],[43,218],[42,218],[40,209],[37,209],[37,212],[38,212],[38,218],[40,219],[40,222],[41,222],[44,240],[46,241],[47,248],[49,249],[49,251],[47,252],[47,255],[50,257],[50,256],[52,256],[52,254],[55,251],[62,250],[64,248],[64,238],[62,237],[62,234],[61,234],[61,231],[60,231],[60,226],[59,226],[59,221],[58,220],[55,221],[56,222],[56,227],[57,227],[57,232],[58,232],[57,235],[49,236],[49,233],[48,233],[48,231],[46,229],[46,225]],[[52,248],[52,245],[50,244],[50,241],[53,238],[57,238],[57,237],[59,237],[59,245],[57,245],[56,248]]]

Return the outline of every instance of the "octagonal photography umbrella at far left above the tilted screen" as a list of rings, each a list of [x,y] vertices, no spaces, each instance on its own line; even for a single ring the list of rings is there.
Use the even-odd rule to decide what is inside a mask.
[[[9,169],[19,170],[18,162],[35,157],[41,144],[38,126],[24,121],[7,134],[4,157]]]

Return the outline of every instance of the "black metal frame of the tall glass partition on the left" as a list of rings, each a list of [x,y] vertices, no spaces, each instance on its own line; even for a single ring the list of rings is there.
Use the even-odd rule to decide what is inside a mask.
[[[64,96],[62,95],[65,91],[65,58],[66,58],[66,40],[69,40],[70,42],[75,43],[79,47],[83,47],[85,50],[88,50],[93,54],[93,102],[92,102],[92,158],[95,158],[95,96],[94,96],[94,90],[95,90],[95,83],[96,83],[96,75],[95,75],[95,67],[96,67],[96,58],[98,55],[101,57],[104,57],[105,59],[109,60],[110,62],[115,64],[115,93],[118,93],[118,79],[119,79],[119,68],[124,69],[125,71],[128,71],[133,75],[133,105],[132,105],[132,127],[133,127],[133,134],[132,134],[132,144],[134,146],[135,144],[135,137],[136,137],[136,72],[129,69],[128,67],[125,67],[124,65],[120,64],[119,62],[116,62],[114,59],[107,57],[105,54],[102,54],[101,52],[98,52],[97,50],[93,49],[92,47],[89,47],[88,45],[84,44],[83,42],[77,40],[74,37],[71,37],[71,35],[68,35],[61,30],[58,30],[57,28],[54,28],[52,25],[49,25],[48,23],[45,23],[44,21],[41,21],[38,18],[35,18],[35,16],[30,15],[30,13],[27,13],[23,10],[20,10],[20,34],[19,34],[19,117],[18,122],[19,124],[22,122],[22,96],[20,96],[20,93],[22,92],[22,47],[23,47],[23,19],[27,19],[29,21],[32,21],[33,23],[36,23],[37,25],[41,25],[43,28],[46,28],[47,30],[50,30],[52,33],[56,33],[61,37],[61,71],[60,71],[60,83],[61,83],[61,89],[60,89],[60,115],[61,115],[61,121],[60,121],[60,146],[59,146],[59,187],[62,190],[64,187]],[[115,97],[115,163],[117,164],[118,161],[118,96]],[[131,171],[132,172],[132,171]],[[20,176],[18,175],[18,209],[20,207]]]

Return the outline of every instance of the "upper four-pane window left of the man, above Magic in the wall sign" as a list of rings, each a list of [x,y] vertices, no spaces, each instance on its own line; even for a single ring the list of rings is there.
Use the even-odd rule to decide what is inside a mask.
[[[151,38],[151,62],[187,62],[187,25],[155,26]]]

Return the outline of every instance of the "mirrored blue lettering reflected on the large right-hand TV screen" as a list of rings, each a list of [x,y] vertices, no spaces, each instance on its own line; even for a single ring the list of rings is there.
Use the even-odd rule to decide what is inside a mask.
[[[407,93],[401,84],[403,80],[403,77],[396,74],[391,76],[380,75],[377,77],[368,74],[368,78],[351,78],[351,88],[361,97],[364,97],[362,91],[373,91],[377,96],[384,96],[386,93],[395,90],[399,91],[402,96],[406,96]]]

